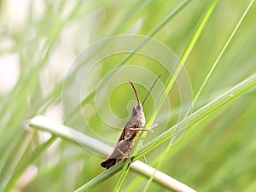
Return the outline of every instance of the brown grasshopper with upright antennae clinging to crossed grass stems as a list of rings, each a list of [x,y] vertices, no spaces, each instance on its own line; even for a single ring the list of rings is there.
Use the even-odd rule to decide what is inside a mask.
[[[107,160],[101,163],[102,167],[109,169],[111,166],[114,166],[119,161],[125,159],[129,160],[131,166],[131,159],[129,157],[129,154],[131,154],[131,150],[134,147],[135,143],[137,142],[137,138],[139,137],[140,132],[153,132],[152,128],[154,128],[156,125],[151,125],[148,130],[143,129],[145,125],[143,104],[146,101],[150,91],[153,89],[154,84],[156,84],[157,80],[160,79],[161,75],[162,73],[160,73],[157,79],[154,80],[154,83],[152,84],[150,90],[148,90],[148,93],[145,96],[142,103],[140,102],[140,99],[137,95],[137,90],[135,89],[134,84],[132,84],[132,82],[129,81],[137,97],[137,106],[132,108],[131,119],[126,123],[125,128],[122,131],[121,136],[119,137],[119,141],[116,147],[113,149],[113,153],[110,154]]]

